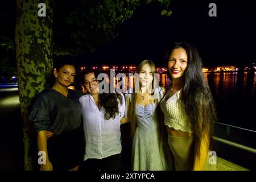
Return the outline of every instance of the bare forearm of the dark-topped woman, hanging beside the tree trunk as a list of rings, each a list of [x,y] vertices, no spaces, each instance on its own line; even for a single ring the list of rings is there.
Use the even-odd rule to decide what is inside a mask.
[[[44,130],[39,131],[37,140],[38,140],[38,151],[46,152],[46,164],[41,164],[40,171],[52,171],[52,164],[48,158],[46,131]]]

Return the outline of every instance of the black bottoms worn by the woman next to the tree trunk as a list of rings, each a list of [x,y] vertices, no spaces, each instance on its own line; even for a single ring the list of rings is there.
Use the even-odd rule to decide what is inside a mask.
[[[67,171],[84,159],[85,141],[82,125],[47,140],[49,161],[54,171]]]

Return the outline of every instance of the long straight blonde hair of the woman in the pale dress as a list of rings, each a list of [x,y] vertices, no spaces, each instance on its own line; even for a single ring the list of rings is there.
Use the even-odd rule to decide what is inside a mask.
[[[143,60],[139,64],[139,67],[137,69],[138,74],[141,73],[142,67],[146,64],[148,64],[150,66],[150,71],[152,73],[156,73],[155,64],[151,60]],[[155,88],[156,88],[156,85],[157,85],[156,82],[158,82],[158,79],[153,78],[153,80],[152,80],[152,90],[153,90],[153,92],[151,93],[151,96],[153,96],[155,94],[154,92],[155,92]],[[130,101],[130,109],[128,110],[128,116],[130,117],[129,119],[131,121],[131,138],[134,137],[134,134],[135,134],[135,131],[136,131],[136,128],[137,128],[136,108],[137,108],[137,100],[138,100],[139,93],[135,92],[135,88],[141,89],[141,83],[139,82],[139,77],[135,78],[135,85],[134,85],[134,88],[133,88],[133,93],[129,93],[129,94],[132,94],[131,101]],[[154,100],[154,102],[158,102],[158,98],[156,98]]]

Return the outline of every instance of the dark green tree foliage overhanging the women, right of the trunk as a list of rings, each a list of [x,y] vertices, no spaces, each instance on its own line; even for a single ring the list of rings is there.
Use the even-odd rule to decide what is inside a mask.
[[[163,6],[162,15],[171,15],[170,1],[167,0],[56,0],[53,54],[93,52],[113,40],[118,35],[116,28],[129,19],[139,6],[152,2]]]

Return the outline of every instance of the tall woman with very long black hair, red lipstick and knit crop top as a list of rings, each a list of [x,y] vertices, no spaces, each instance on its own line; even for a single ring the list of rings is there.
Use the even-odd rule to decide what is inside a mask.
[[[172,86],[160,102],[176,170],[212,170],[209,147],[216,109],[196,48],[175,44],[167,53]]]

